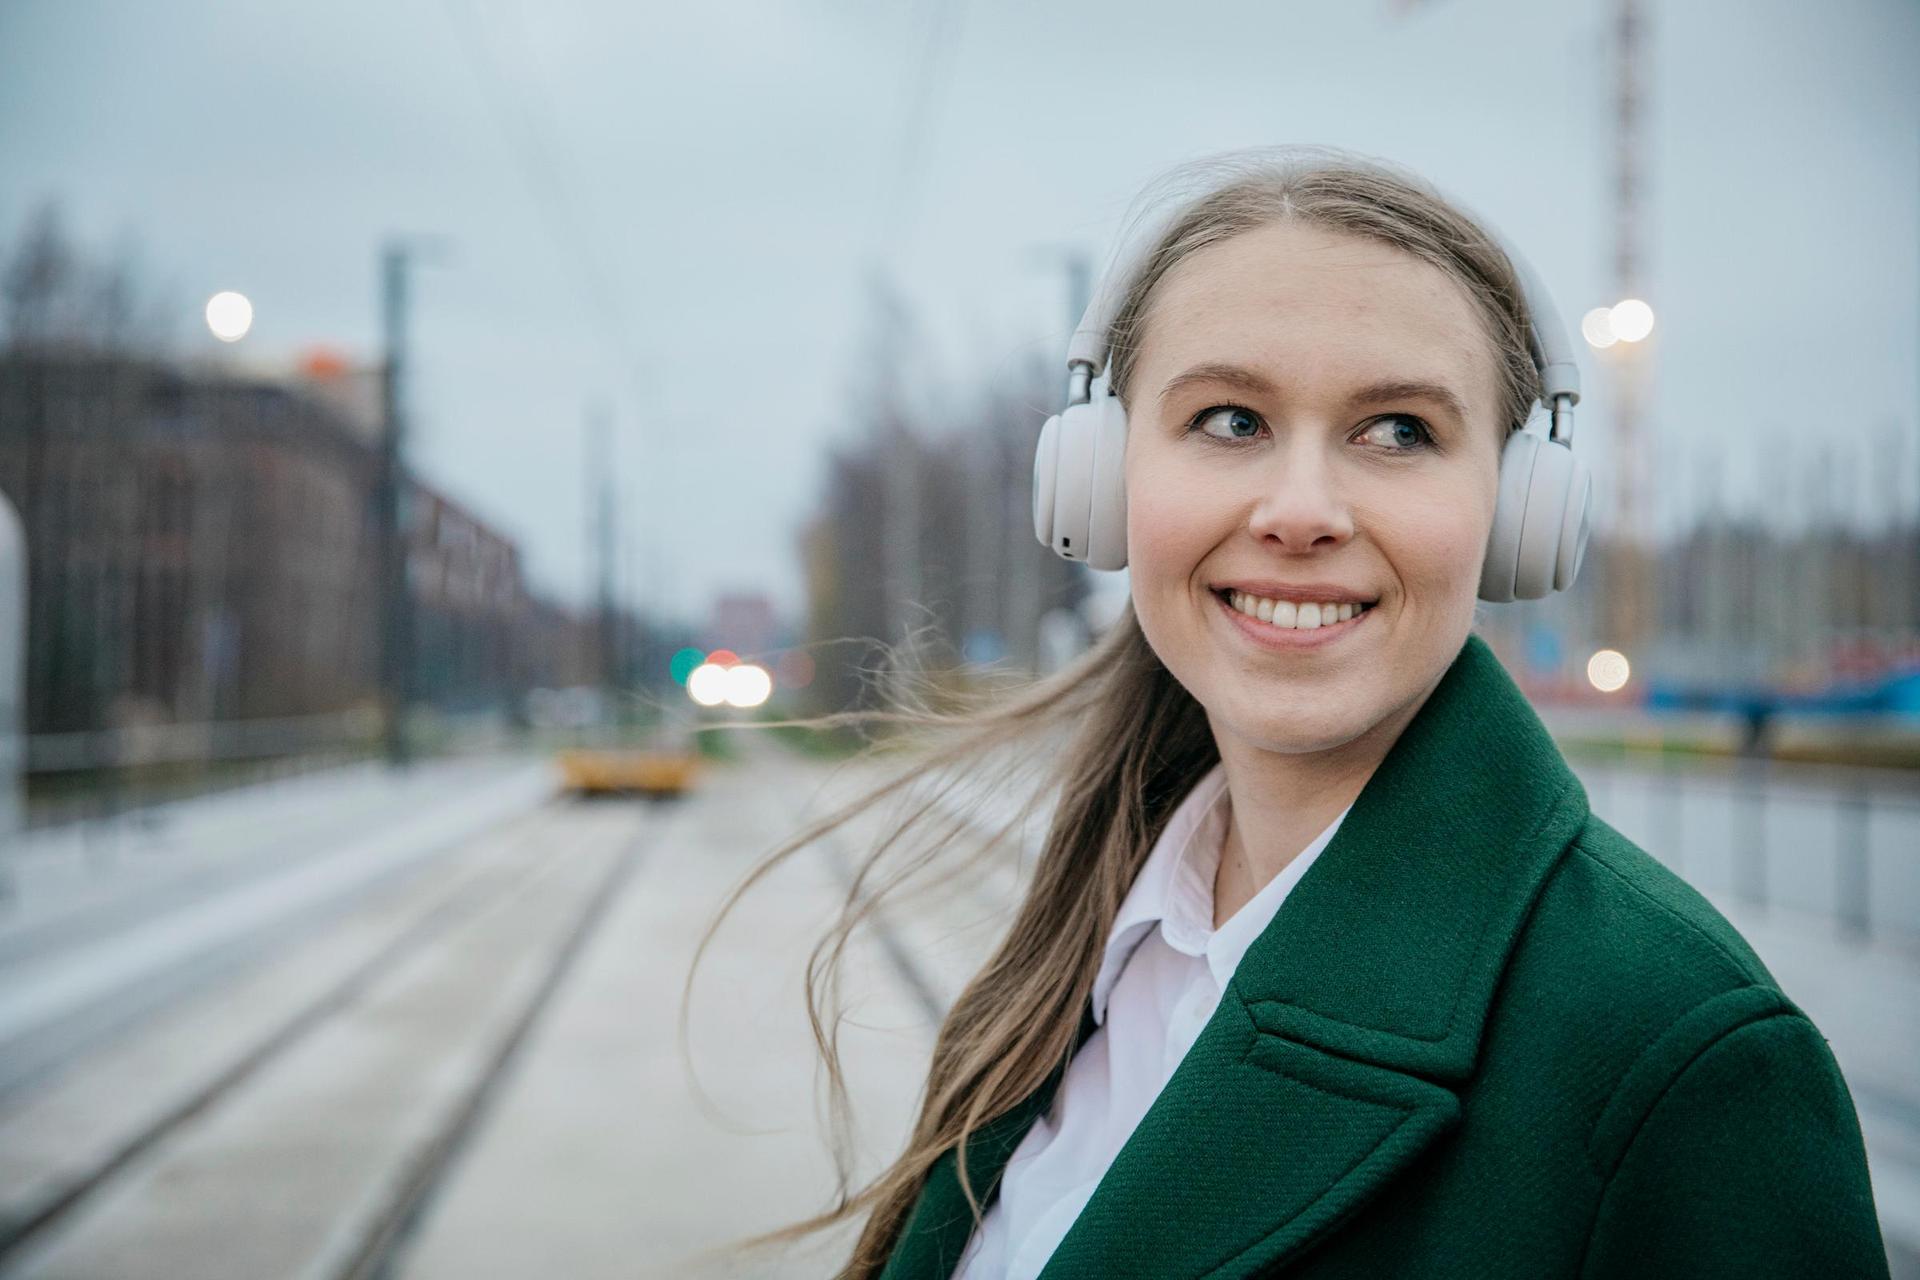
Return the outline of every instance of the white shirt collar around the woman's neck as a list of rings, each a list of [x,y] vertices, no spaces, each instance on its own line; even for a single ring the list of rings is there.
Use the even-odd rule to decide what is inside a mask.
[[[1267,925],[1313,860],[1332,841],[1340,821],[1354,806],[1340,810],[1325,831],[1313,837],[1286,867],[1267,881],[1246,906],[1213,929],[1213,879],[1219,871],[1233,798],[1227,793],[1227,770],[1215,762],[1187,798],[1179,802],[1146,854],[1133,887],[1127,890],[1114,927],[1108,931],[1106,952],[1092,983],[1094,1023],[1106,1021],[1106,1006],[1119,983],[1133,950],[1160,927],[1162,938],[1183,956],[1206,958],[1213,983],[1225,990],[1233,971]]]

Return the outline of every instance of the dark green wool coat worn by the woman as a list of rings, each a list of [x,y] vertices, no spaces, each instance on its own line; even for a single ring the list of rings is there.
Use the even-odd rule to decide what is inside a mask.
[[[989,1203],[1058,1080],[975,1132]],[[950,1276],[972,1230],[948,1151],[885,1280]],[[1826,1040],[1726,919],[1588,810],[1478,637],[1043,1272],[1885,1274]]]

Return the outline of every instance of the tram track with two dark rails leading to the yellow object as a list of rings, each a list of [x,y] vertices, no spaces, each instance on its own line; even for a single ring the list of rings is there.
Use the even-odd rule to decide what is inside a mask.
[[[392,1052],[384,1057],[374,1054],[363,1061],[353,1061],[351,1054],[334,1052],[328,1059],[328,1052],[319,1042],[332,1036],[338,1044],[351,1048],[355,1036],[367,1040],[369,1034],[386,1032],[407,1048],[405,1025],[399,1031],[394,1027],[396,1013],[405,1011],[405,992],[401,990],[399,1007],[378,1009],[374,1006],[382,1000],[388,1006],[396,1004],[392,988],[405,986],[405,979],[396,975],[424,969],[428,983],[420,994],[426,996],[428,1015],[438,994],[453,992],[465,996],[467,1004],[476,1009],[476,1021],[484,1023],[484,1032],[478,1040],[468,1032],[459,1046],[444,1054],[445,1061],[413,1063],[415,1086],[420,1080],[434,1082],[436,1075],[449,1075],[457,1084],[451,1090],[440,1088],[438,1096],[432,1098],[432,1121],[417,1125],[407,1142],[399,1144],[397,1150],[380,1148],[376,1155],[367,1157],[369,1161],[384,1161],[386,1169],[359,1167],[346,1171],[346,1176],[340,1178],[340,1186],[359,1182],[367,1184],[372,1194],[342,1196],[342,1221],[326,1222],[324,1230],[319,1232],[324,1236],[323,1247],[311,1257],[284,1257],[271,1272],[253,1270],[257,1265],[253,1259],[234,1259],[230,1267],[221,1263],[223,1247],[232,1242],[221,1240],[221,1221],[227,1213],[215,1205],[204,1213],[205,1230],[200,1245],[209,1251],[202,1255],[205,1265],[165,1272],[196,1276],[301,1274],[315,1280],[369,1280],[388,1274],[390,1261],[405,1242],[411,1222],[430,1203],[434,1190],[457,1161],[467,1136],[484,1119],[499,1082],[511,1073],[528,1034],[563,986],[570,965],[639,858],[647,827],[632,819],[618,825],[603,819],[597,829],[586,823],[589,839],[580,841],[576,831],[574,846],[568,848],[564,839],[568,835],[566,808],[574,806],[549,804],[522,819],[515,837],[493,850],[484,865],[468,867],[451,889],[432,896],[413,912],[384,944],[361,956],[323,990],[313,992],[292,1015],[282,1017],[244,1052],[207,1063],[204,1077],[190,1090],[119,1134],[108,1150],[98,1153],[98,1159],[83,1169],[67,1171],[65,1176],[42,1180],[40,1186],[31,1188],[31,1196],[15,1197],[13,1203],[0,1207],[0,1274],[121,1274],[100,1270],[98,1265],[102,1259],[113,1257],[115,1247],[127,1247],[132,1240],[121,1240],[113,1247],[96,1247],[92,1253],[88,1253],[84,1240],[73,1249],[63,1249],[77,1236],[88,1234],[88,1211],[109,1196],[125,1201],[129,1194],[134,1199],[140,1194],[152,1194],[150,1188],[144,1192],[129,1188],[140,1182],[152,1184],[156,1178],[165,1182],[161,1174],[169,1161],[192,1167],[194,1155],[188,1150],[196,1142],[196,1134],[204,1138],[205,1130],[221,1128],[223,1123],[228,1130],[234,1128],[228,1113],[246,1111],[248,1105],[259,1111],[257,1094],[263,1090],[271,1094],[267,1079],[276,1071],[298,1075],[303,1069],[309,1077],[317,1073],[324,1079],[328,1063],[340,1061],[342,1071],[349,1075],[359,1071],[365,1077],[363,1094],[378,1092],[382,1084],[403,1092],[407,1086],[403,1080],[388,1080],[382,1075],[392,1073]],[[563,852],[555,852],[555,844],[563,846]],[[528,961],[532,971],[526,971],[528,963],[511,961],[515,944],[520,952],[534,954]],[[436,977],[432,973],[434,952],[457,948],[465,948],[480,963],[488,961],[490,952],[507,948],[507,961],[493,956],[499,988],[461,992],[459,963],[444,965],[445,973]],[[388,990],[382,994],[382,988]],[[344,1027],[355,1017],[369,1023],[371,1031],[369,1027],[357,1031]],[[386,1025],[380,1023],[382,1017]],[[426,1050],[428,1059],[432,1054]],[[298,1063],[301,1057],[313,1061],[301,1067]],[[336,1088],[334,1092],[348,1102],[355,1100],[353,1090]],[[394,1115],[413,1119],[417,1100],[409,1096],[401,1102],[407,1105],[394,1107]],[[271,1103],[267,1103],[267,1115],[273,1115]],[[0,1138],[6,1136],[6,1125],[15,1117],[17,1113],[0,1115]],[[378,1134],[380,1128],[372,1126],[372,1132]],[[236,1142],[232,1132],[225,1140],[246,1165],[246,1144]],[[200,1163],[204,1165],[205,1157]],[[298,1182],[298,1178],[294,1180]],[[200,1207],[207,1209],[207,1205]],[[127,1213],[121,1211],[113,1217],[115,1221],[106,1224],[109,1236],[115,1226],[125,1226]],[[171,1247],[192,1253],[200,1245],[188,1240],[190,1228],[182,1232],[184,1217],[192,1215],[161,1217],[148,1221],[146,1226],[150,1234],[165,1236]],[[236,1226],[246,1230],[244,1224]],[[303,1222],[301,1226],[313,1224]],[[138,1238],[138,1228],[136,1222],[121,1230],[121,1236],[131,1232],[132,1238]],[[298,1234],[286,1232],[288,1238]],[[257,1247],[253,1251],[257,1253]],[[63,1259],[61,1253],[73,1253],[73,1257]],[[154,1274],[150,1263],[142,1265],[140,1274]]]

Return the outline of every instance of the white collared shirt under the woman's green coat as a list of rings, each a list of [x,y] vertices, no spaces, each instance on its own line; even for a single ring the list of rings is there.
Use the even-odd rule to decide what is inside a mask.
[[[1098,1027],[1046,1115],[1014,1148],[1000,1197],[954,1280],[1033,1280],[1066,1238],[1154,1098],[1219,1007],[1246,948],[1332,841],[1352,806],[1213,929],[1213,875],[1233,812],[1215,764],[1173,810],[1127,890],[1092,984]]]

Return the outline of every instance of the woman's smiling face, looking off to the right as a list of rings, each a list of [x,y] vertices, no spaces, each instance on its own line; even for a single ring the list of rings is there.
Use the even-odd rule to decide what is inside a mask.
[[[1473,626],[1498,497],[1496,351],[1463,288],[1275,223],[1162,278],[1127,391],[1135,612],[1213,733],[1398,737]],[[1302,626],[1340,601],[1371,606]]]

